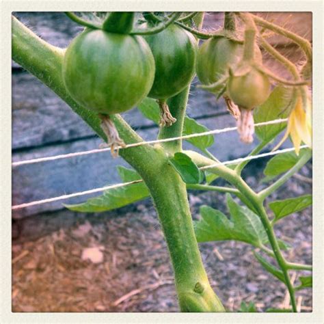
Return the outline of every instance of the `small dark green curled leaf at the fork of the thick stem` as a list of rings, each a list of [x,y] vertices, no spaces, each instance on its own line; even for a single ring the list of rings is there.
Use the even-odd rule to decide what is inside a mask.
[[[204,179],[203,172],[187,154],[176,152],[169,161],[185,183],[201,183]]]

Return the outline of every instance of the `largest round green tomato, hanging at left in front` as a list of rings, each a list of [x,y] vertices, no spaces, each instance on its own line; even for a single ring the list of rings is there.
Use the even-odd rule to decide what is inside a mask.
[[[154,80],[154,58],[140,36],[85,29],[64,55],[63,79],[77,103],[98,113],[137,105]]]

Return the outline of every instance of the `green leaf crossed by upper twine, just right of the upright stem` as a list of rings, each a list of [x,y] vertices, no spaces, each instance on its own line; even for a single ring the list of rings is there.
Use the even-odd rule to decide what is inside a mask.
[[[183,135],[204,133],[208,131],[209,129],[207,129],[206,126],[199,124],[192,118],[189,118],[187,116],[185,117],[185,122],[183,124]],[[212,146],[214,144],[214,137],[213,135],[203,135],[186,139],[186,141],[189,141],[189,143],[191,143],[196,148],[204,150],[204,148],[208,148],[209,146]]]

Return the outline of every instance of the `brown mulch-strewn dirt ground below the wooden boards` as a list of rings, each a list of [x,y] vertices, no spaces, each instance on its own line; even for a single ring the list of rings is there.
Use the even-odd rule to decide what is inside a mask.
[[[264,186],[264,166],[265,160],[254,161],[245,172],[247,183],[256,189]],[[312,184],[304,177],[311,176],[308,163],[271,200],[310,193]],[[198,219],[202,204],[226,212],[224,200],[215,192],[190,192],[193,218]],[[150,200],[100,215],[55,215],[14,224],[13,312],[179,311],[172,267]],[[312,263],[311,208],[286,217],[275,230],[293,247],[286,252],[289,260]],[[253,301],[259,312],[288,307],[284,284],[262,269],[249,245],[224,241],[203,243],[200,249],[211,284],[228,311],[237,312],[242,301]],[[311,312],[312,290],[299,291],[297,304],[301,312]]]

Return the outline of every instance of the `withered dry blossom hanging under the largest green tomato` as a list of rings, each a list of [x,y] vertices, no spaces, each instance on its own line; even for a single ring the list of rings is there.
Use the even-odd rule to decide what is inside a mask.
[[[118,152],[120,147],[124,148],[126,144],[120,138],[115,124],[113,124],[109,115],[99,113],[98,117],[101,120],[100,126],[105,135],[107,136],[107,144],[101,144],[100,148],[111,148],[111,155],[113,157],[118,157]]]

